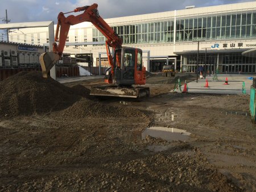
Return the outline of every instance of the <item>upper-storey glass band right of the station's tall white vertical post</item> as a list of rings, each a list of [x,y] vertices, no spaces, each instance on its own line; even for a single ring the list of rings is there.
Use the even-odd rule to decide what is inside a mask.
[[[176,21],[176,41],[248,38],[255,37],[255,32],[255,12]]]

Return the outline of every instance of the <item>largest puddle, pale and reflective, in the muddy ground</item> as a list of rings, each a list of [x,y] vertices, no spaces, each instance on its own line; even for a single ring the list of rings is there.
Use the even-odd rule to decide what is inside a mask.
[[[150,127],[142,132],[142,139],[144,139],[146,135],[161,138],[166,141],[187,141],[189,140],[189,135],[191,135],[191,133],[177,128]]]

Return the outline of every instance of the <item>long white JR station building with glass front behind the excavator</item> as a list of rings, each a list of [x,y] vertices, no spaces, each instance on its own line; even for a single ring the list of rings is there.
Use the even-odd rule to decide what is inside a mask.
[[[256,48],[255,1],[198,8],[189,6],[184,10],[105,21],[122,38],[124,46],[143,50],[143,64],[150,72],[158,72],[163,65],[170,64],[183,72],[196,72],[197,64],[220,73],[256,72],[255,58],[241,55]],[[10,32],[10,40],[43,45],[48,43],[48,31],[47,28],[20,29]],[[94,66],[97,66],[99,59],[106,60],[104,41],[105,37],[91,23],[80,23],[71,26],[64,52],[90,53]]]

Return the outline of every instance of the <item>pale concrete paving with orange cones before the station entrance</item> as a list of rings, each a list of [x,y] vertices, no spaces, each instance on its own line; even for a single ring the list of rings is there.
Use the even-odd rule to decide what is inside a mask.
[[[209,93],[209,94],[243,94],[242,82],[245,81],[246,94],[250,94],[250,86],[253,80],[249,77],[254,77],[253,74],[217,74],[218,81],[213,81],[213,75],[207,76],[209,87],[205,87],[206,79],[200,79],[198,82],[192,81],[188,83],[188,93]],[[224,85],[228,78],[228,84]],[[184,85],[181,90],[184,89]],[[180,92],[180,91],[178,91]]]

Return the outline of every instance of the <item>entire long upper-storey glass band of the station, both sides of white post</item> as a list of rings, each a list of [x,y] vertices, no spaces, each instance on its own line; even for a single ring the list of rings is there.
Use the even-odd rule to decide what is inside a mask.
[[[174,20],[114,26],[123,44],[168,43],[174,41]],[[176,41],[238,39],[256,37],[256,12],[176,19]],[[105,41],[93,29],[93,41]]]

